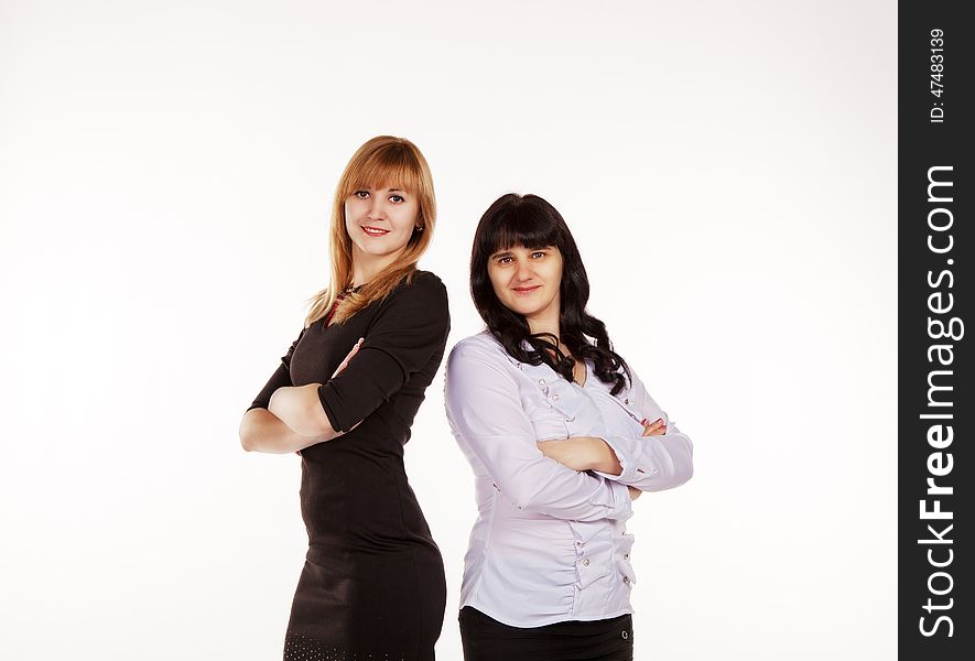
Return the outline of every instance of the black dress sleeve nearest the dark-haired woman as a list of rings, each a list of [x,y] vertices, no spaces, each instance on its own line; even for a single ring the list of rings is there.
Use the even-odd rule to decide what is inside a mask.
[[[451,314],[447,290],[418,273],[383,301],[348,366],[318,388],[332,429],[348,432],[396,394],[416,371],[443,358]]]

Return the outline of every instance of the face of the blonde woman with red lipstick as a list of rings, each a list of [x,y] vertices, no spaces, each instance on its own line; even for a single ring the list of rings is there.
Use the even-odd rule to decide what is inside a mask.
[[[355,191],[345,199],[345,229],[354,260],[396,257],[407,247],[420,215],[415,195],[382,185]]]

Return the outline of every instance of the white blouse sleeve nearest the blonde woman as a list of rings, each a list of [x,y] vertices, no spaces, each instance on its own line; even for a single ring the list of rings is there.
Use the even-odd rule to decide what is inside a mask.
[[[461,343],[451,353],[444,403],[457,441],[519,509],[572,521],[628,519],[631,499],[624,484],[542,454],[505,360],[477,343]]]

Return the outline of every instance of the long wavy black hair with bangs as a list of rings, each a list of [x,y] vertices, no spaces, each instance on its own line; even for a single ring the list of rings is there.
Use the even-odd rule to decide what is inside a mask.
[[[516,360],[530,365],[545,362],[566,380],[573,380],[575,360],[559,350],[560,338],[551,333],[532,334],[528,321],[495,295],[488,260],[491,254],[516,246],[529,250],[555,247],[562,253],[559,288],[562,343],[573,356],[591,359],[596,377],[604,383],[613,383],[610,392],[618,393],[626,386],[625,379],[630,379],[629,367],[613,350],[606,324],[586,312],[589,281],[568,226],[555,207],[538,195],[502,195],[477,224],[470,251],[470,297],[490,334]],[[596,344],[591,344],[586,336]],[[531,349],[522,346],[526,340]]]

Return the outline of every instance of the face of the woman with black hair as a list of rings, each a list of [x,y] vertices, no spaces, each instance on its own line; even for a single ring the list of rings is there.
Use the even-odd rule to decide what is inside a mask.
[[[488,278],[501,304],[528,319],[559,318],[562,253],[514,247],[488,259]]]

